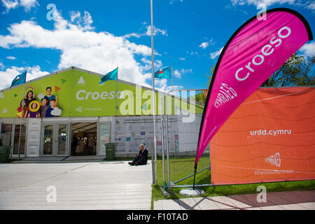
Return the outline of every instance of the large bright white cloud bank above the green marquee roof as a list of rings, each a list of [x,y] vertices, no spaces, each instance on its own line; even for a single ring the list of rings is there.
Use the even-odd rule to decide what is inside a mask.
[[[151,71],[147,61],[137,62],[136,55],[151,59],[151,48],[128,41],[122,36],[114,36],[109,32],[90,30],[92,18],[90,13],[81,17],[79,13],[72,13],[72,20],[62,18],[56,14],[54,29],[44,29],[34,21],[22,21],[8,27],[10,32],[6,36],[0,35],[0,47],[12,48],[48,48],[61,52],[58,69],[77,66],[82,69],[106,73],[119,66],[118,78],[139,85],[151,86]],[[79,21],[79,22],[78,22]],[[27,30],[27,32],[25,32]],[[49,56],[47,56],[49,57]],[[157,64],[162,62],[156,60]],[[19,71],[8,68],[2,71],[1,77],[10,84],[13,76]],[[35,71],[35,70],[34,70]],[[7,73],[4,76],[4,73]],[[38,70],[38,74],[39,74]],[[13,77],[13,78],[12,78]]]

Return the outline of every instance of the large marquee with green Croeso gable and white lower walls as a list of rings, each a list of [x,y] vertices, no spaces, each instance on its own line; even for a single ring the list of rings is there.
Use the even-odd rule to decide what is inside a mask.
[[[139,144],[150,153],[152,89],[124,80],[99,85],[102,76],[70,67],[1,90],[0,144],[11,146],[11,158],[104,156],[109,142],[117,143],[118,156],[134,155]],[[204,106],[165,92],[155,91],[155,99],[157,152],[162,151],[161,109],[168,114],[170,151],[195,151]]]

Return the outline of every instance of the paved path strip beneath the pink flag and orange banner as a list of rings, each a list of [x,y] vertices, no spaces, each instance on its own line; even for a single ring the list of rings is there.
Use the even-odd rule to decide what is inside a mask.
[[[257,194],[218,197],[190,197],[154,202],[155,210],[315,210],[315,190],[267,193],[259,203]]]

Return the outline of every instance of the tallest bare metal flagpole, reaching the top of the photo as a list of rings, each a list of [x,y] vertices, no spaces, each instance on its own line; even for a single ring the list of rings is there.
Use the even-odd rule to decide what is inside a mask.
[[[152,78],[153,78],[153,134],[154,134],[154,160],[152,165],[154,167],[153,172],[153,185],[158,184],[158,170],[156,167],[156,130],[155,130],[155,85],[154,85],[154,45],[153,45],[153,0],[151,0],[151,51],[152,51]],[[152,152],[152,158],[153,158]]]

